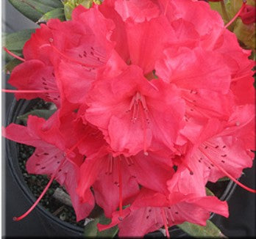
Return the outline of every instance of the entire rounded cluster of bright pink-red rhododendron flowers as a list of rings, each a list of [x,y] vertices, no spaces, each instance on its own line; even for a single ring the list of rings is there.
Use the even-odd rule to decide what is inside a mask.
[[[229,216],[208,181],[230,177],[255,192],[236,180],[254,156],[254,62],[206,2],[79,6],[71,21],[41,24],[23,53],[9,81],[15,98],[57,111],[4,136],[36,148],[27,171],[65,185],[77,221],[96,203],[112,218],[99,229],[168,235],[211,212]]]

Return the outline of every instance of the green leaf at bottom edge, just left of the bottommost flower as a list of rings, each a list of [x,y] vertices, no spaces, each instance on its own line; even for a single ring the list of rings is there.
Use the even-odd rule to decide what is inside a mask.
[[[84,236],[87,237],[98,237],[98,238],[113,238],[115,234],[118,232],[118,227],[111,227],[110,229],[106,229],[102,232],[99,232],[97,224],[109,224],[111,221],[110,218],[106,218],[104,215],[99,218],[95,218],[93,221],[90,221],[85,226]]]

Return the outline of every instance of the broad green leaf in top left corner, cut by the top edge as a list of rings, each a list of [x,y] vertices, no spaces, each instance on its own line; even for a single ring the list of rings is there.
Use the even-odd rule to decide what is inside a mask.
[[[38,21],[46,12],[63,7],[60,0],[9,0],[19,12],[32,21]]]

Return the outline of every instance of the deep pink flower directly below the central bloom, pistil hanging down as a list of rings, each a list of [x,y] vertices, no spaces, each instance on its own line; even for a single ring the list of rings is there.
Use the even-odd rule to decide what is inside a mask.
[[[109,150],[102,149],[82,164],[80,174],[83,177],[79,180],[77,193],[87,202],[87,191],[92,185],[97,204],[110,217],[119,203],[129,205],[132,202],[139,185],[166,193],[166,181],[173,173],[171,166],[169,158],[154,152],[113,157]]]

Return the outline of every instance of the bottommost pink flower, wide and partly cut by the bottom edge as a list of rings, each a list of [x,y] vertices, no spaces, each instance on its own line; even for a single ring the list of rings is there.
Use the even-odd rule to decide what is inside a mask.
[[[132,206],[124,210],[124,219],[118,219],[113,213],[112,223],[101,225],[100,230],[118,224],[119,236],[143,237],[165,225],[182,224],[184,221],[205,225],[210,211],[228,216],[227,202],[221,202],[215,196],[182,196],[182,199],[168,199],[163,194],[143,188]],[[143,221],[143,224],[141,224]],[[167,231],[168,232],[168,231]]]

